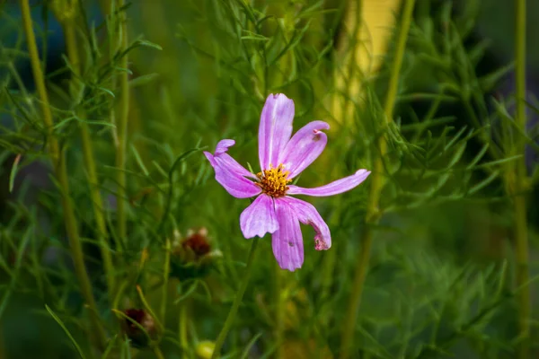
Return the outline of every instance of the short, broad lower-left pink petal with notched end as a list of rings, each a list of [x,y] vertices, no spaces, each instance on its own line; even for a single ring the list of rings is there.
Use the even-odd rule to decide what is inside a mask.
[[[278,230],[273,198],[267,195],[257,197],[240,215],[240,228],[245,238],[263,237]]]

